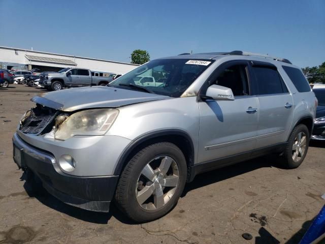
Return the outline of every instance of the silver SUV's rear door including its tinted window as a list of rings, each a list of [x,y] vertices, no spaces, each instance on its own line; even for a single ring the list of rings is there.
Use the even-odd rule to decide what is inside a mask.
[[[257,147],[285,142],[293,121],[293,98],[277,67],[266,62],[250,62],[259,102]]]

